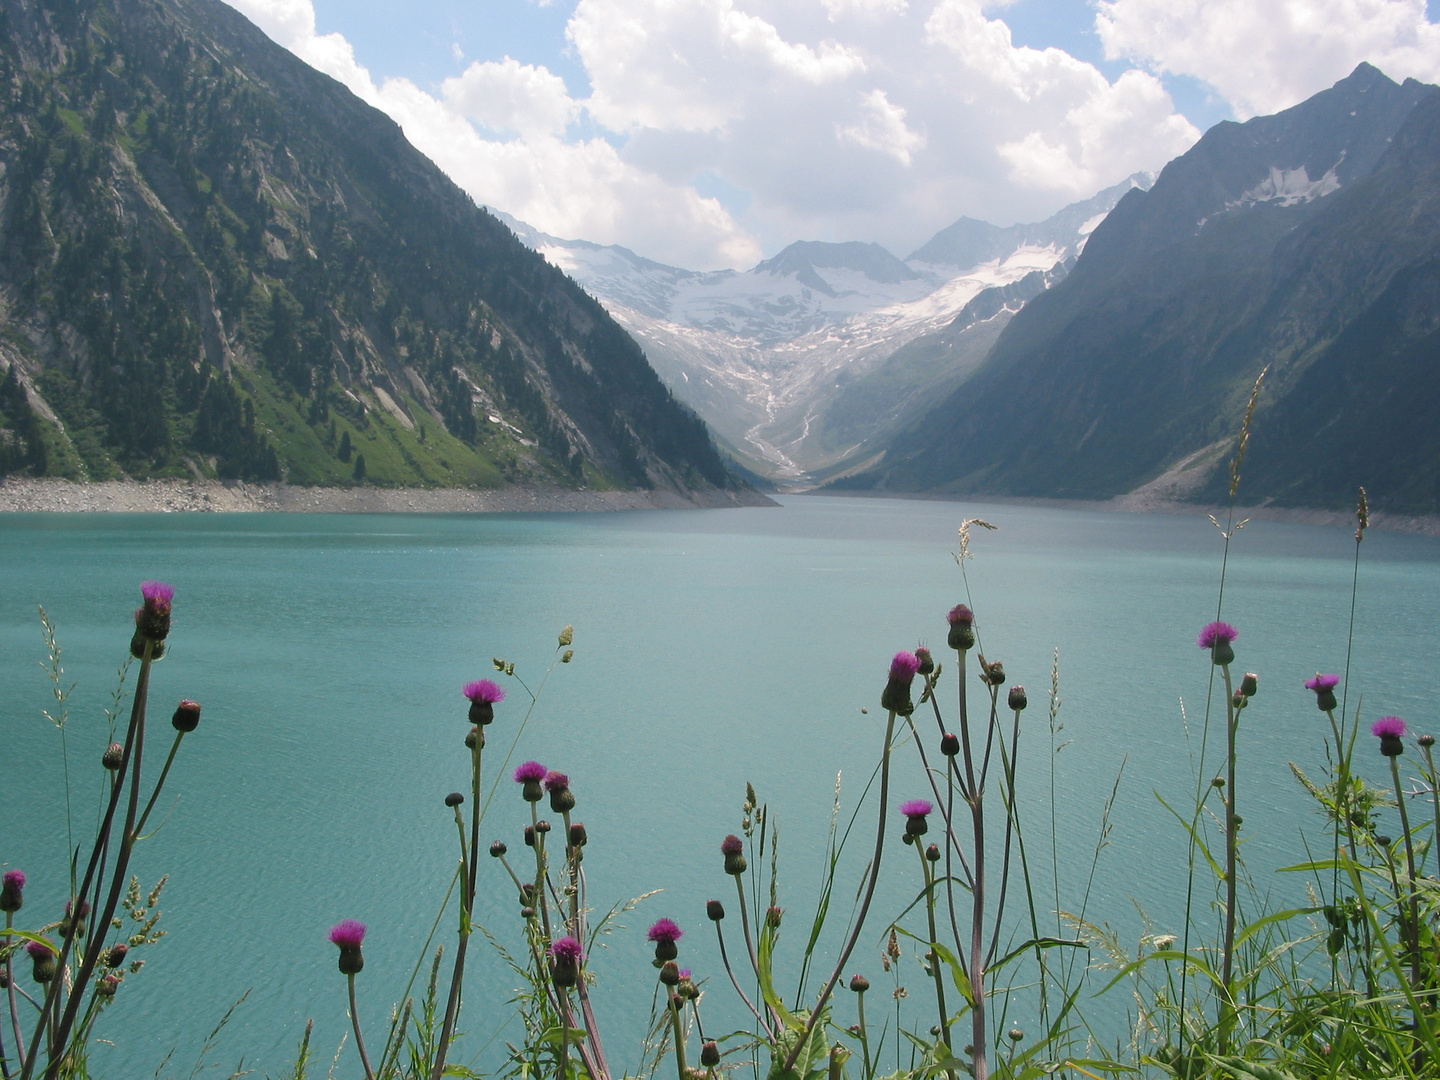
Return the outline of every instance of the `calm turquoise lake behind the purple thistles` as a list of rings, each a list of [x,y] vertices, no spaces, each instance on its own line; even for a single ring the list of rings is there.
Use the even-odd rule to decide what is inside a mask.
[[[157,811],[164,825],[132,863],[147,888],[170,876],[168,935],[144,950],[145,969],[102,1018],[99,1035],[112,1045],[96,1050],[98,1071],[190,1076],[206,1035],[246,991],[200,1076],[229,1076],[242,1063],[256,1076],[284,1071],[311,1017],[323,1071],[348,1031],[344,976],[325,939],[347,917],[370,927],[359,991],[374,1053],[454,873],[442,799],[465,786],[459,687],[495,677],[510,690],[490,729],[494,778],[527,697],[491,658],[514,661],[536,687],[566,624],[575,662],[550,675],[510,765],[539,759],[570,775],[575,816],[590,835],[592,906],[664,890],[621,919],[590,960],[611,1064],[639,1061],[654,988],[644,930],[660,916],[690,932],[683,962],[698,978],[719,976],[707,1027],[739,1027],[742,1008],[721,985],[704,919],[707,899],[734,894],[719,842],[739,829],[753,782],[779,824],[782,950],[796,956],[837,773],[848,814],[878,757],[890,657],[927,641],[946,658],[945,612],[966,599],[952,556],[965,517],[999,527],[973,539],[969,598],[984,651],[1030,691],[1021,798],[1045,848],[1054,770],[1061,906],[1081,901],[1119,776],[1089,914],[1132,943],[1142,930],[1136,904],[1156,930],[1178,929],[1185,841],[1156,791],[1184,804],[1195,786],[1211,675],[1195,635],[1215,618],[1217,528],[1200,516],[782,503],[570,516],[0,516],[0,867],[29,874],[20,924],[58,917],[66,899],[65,769],[60,734],[40,713],[53,701],[37,605],[76,683],[65,734],[76,838],[95,822],[105,708],[144,579],[177,590],[170,655],[153,677],[158,734],[147,760],[158,763],[168,746],[174,701],[204,704]],[[1241,732],[1240,809],[1248,864],[1277,906],[1303,883],[1264,870],[1300,861],[1300,829],[1318,832],[1287,763],[1323,765],[1328,726],[1302,683],[1344,670],[1354,552],[1349,528],[1260,521],[1231,544],[1224,618],[1240,628],[1236,667],[1260,674]],[[1440,727],[1437,611],[1440,541],[1371,531],[1348,685],[1349,708],[1359,704],[1367,723],[1395,713],[1417,730]],[[1053,755],[1057,648],[1066,746]],[[940,700],[953,717],[953,678]],[[1361,760],[1384,782],[1364,740]],[[1212,757],[1205,775],[1217,766]],[[897,752],[894,792],[897,801],[927,793],[912,746]],[[482,838],[524,852],[527,821],[517,786],[503,779]],[[867,806],[837,907],[848,910],[871,831]],[[893,845],[887,860],[873,932],[848,965],[876,982],[884,923],[917,888],[910,852]],[[1048,851],[1037,873],[1050,888]],[[487,860],[481,880],[481,920],[517,948],[508,878]],[[446,917],[436,943],[452,942]],[[491,1071],[504,1040],[517,1037],[501,1022],[517,982],[482,939],[471,955],[455,1057]],[[929,1008],[913,963],[910,972],[913,1001]],[[338,1074],[359,1074],[348,1045]]]

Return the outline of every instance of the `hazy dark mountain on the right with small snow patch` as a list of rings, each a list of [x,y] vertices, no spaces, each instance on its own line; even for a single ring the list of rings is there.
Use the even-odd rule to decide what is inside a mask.
[[[1369,65],[1129,193],[855,488],[1440,510],[1440,89]]]

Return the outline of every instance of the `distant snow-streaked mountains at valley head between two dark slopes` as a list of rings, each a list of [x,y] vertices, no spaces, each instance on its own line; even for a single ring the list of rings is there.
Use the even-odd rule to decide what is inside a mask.
[[[605,304],[740,462],[804,485],[863,464],[963,382],[1021,294],[1034,295],[1020,282],[1063,276],[1104,213],[1151,180],[1138,174],[1038,225],[962,219],[906,261],[876,243],[802,240],[744,272],[665,266],[498,216]],[[956,229],[984,232],[988,246],[958,248],[945,239]],[[994,307],[985,320],[962,320],[971,334],[956,325],[988,289],[1017,288],[982,301]]]

